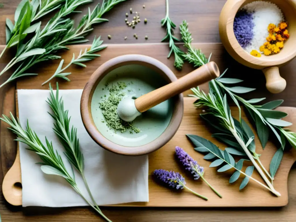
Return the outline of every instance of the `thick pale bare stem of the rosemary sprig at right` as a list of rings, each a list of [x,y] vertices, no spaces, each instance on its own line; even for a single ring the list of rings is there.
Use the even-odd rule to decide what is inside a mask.
[[[242,139],[239,137],[239,135],[237,134],[237,131],[233,128],[229,127],[229,131],[232,133],[232,135],[235,137],[235,139],[237,140],[237,142],[241,145],[241,147],[244,149],[244,152],[247,154],[247,156],[249,157],[249,159],[251,160],[252,164],[255,166],[255,168],[257,169],[258,173],[260,174],[260,176],[263,178],[263,180],[266,182],[266,184],[268,185],[268,187],[270,188],[269,190],[271,190],[271,192],[273,192],[276,196],[281,196],[281,194],[279,192],[277,192],[274,187],[272,186],[271,182],[268,180],[268,178],[266,177],[266,175],[264,174],[264,172],[262,171],[262,169],[260,168],[260,166],[256,163],[255,159],[253,158],[252,154],[250,153],[250,151],[248,150],[248,148],[246,147],[246,144],[244,144],[244,141],[242,141]],[[254,179],[254,178],[253,178]],[[255,180],[255,179],[254,179]],[[259,182],[259,181],[258,181]],[[260,182],[259,182],[260,183]],[[265,186],[265,185],[264,185]]]

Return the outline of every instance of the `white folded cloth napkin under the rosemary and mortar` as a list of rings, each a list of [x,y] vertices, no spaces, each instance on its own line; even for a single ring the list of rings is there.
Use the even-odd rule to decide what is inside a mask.
[[[81,151],[84,155],[85,176],[98,205],[127,202],[148,202],[148,156],[128,157],[111,153],[96,144],[86,132],[80,115],[82,90],[59,90],[64,100],[65,110],[71,116],[70,125],[77,128]],[[45,144],[45,136],[52,141],[54,149],[61,154],[66,168],[70,164],[63,154],[63,147],[54,134],[53,119],[46,103],[49,90],[17,90],[20,124],[30,127]],[[85,206],[86,202],[72,189],[64,178],[46,175],[37,154],[20,143],[20,163],[22,172],[22,205],[45,207]],[[133,148],[131,148],[133,149]],[[79,189],[90,200],[81,176],[75,170]]]

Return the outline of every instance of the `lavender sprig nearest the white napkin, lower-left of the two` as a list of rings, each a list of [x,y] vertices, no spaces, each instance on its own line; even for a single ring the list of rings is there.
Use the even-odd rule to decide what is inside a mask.
[[[187,190],[197,195],[198,197],[201,197],[204,200],[208,200],[206,197],[194,192],[192,189],[189,189],[185,185],[186,184],[185,178],[178,172],[159,169],[159,170],[154,170],[154,175],[157,177],[157,179],[164,182],[165,184],[168,184],[172,188],[175,188],[175,189],[186,188]]]

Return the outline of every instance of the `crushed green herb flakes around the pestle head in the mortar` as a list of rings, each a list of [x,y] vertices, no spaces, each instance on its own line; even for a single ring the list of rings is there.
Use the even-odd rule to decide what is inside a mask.
[[[107,87],[110,96],[99,103],[100,108],[102,109],[107,126],[110,129],[114,129],[115,133],[116,131],[123,133],[127,129],[130,129],[130,133],[139,133],[140,129],[133,126],[133,122],[123,121],[117,114],[117,106],[123,96],[125,96],[125,93],[122,90],[126,87],[127,85],[124,82],[118,82],[117,84],[112,84],[112,86]]]

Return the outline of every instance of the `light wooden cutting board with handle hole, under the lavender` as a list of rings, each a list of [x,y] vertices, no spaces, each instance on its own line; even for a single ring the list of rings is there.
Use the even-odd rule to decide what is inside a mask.
[[[287,179],[291,166],[296,160],[296,151],[294,149],[285,152],[282,163],[275,176],[274,188],[281,194],[281,197],[276,197],[268,192],[265,188],[258,185],[256,182],[250,180],[246,188],[239,191],[239,185],[243,178],[240,176],[239,180],[234,184],[229,184],[229,177],[234,173],[234,170],[228,170],[224,173],[218,173],[216,168],[209,168],[210,162],[203,159],[203,155],[194,151],[192,144],[186,138],[186,134],[194,134],[202,136],[205,139],[211,140],[218,147],[224,149],[225,145],[211,137],[210,128],[205,125],[205,122],[199,117],[202,109],[196,109],[193,106],[195,98],[184,98],[184,115],[181,126],[173,138],[165,144],[162,148],[149,154],[149,202],[147,203],[127,203],[116,206],[136,206],[136,207],[275,207],[285,206],[288,203],[288,189]],[[294,107],[279,107],[283,112],[289,115],[289,121],[294,123],[296,121],[296,108]],[[231,107],[231,114],[234,118],[239,118],[239,111],[236,106]],[[247,121],[246,116],[242,113],[242,118]],[[296,122],[294,127],[296,129]],[[253,130],[254,131],[254,130]],[[255,132],[255,131],[254,131]],[[261,154],[260,160],[266,169],[270,163],[271,158],[276,152],[276,147],[268,142],[266,148],[262,149],[258,138],[255,140],[256,152]],[[197,162],[205,167],[206,180],[223,196],[222,199],[218,197],[204,182],[201,180],[195,181],[190,173],[184,172],[184,168],[179,165],[175,159],[175,147],[181,146],[189,155],[191,155]],[[242,171],[251,163],[244,162]],[[19,167],[17,169],[17,167]],[[190,192],[183,190],[174,191],[166,187],[160,186],[153,177],[155,169],[166,169],[181,172],[186,175],[186,184],[189,188],[204,195],[209,200],[205,201],[197,198]],[[18,190],[11,186],[11,181],[19,182],[20,178],[20,159],[17,159],[4,177],[2,192],[7,197],[10,203],[17,205],[21,202],[21,196]],[[257,171],[252,174],[252,177],[264,183]],[[5,182],[5,184],[4,184]],[[9,187],[10,186],[10,187]],[[9,189],[10,188],[10,189]],[[235,197],[235,198],[234,198]],[[260,197],[260,198],[256,198]]]

